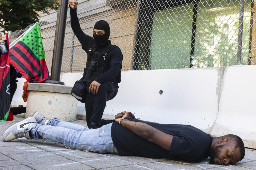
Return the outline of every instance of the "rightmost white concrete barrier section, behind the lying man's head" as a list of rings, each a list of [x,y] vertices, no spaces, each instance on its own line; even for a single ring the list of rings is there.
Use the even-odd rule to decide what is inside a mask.
[[[256,65],[227,66],[212,135],[235,134],[256,148]]]

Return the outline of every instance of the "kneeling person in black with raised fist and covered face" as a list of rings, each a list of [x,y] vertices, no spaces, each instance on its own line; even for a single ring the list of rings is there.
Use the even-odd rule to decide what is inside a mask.
[[[121,49],[109,40],[110,27],[99,20],[93,27],[93,37],[86,35],[77,17],[77,1],[70,3],[70,24],[75,36],[87,53],[83,81],[86,84],[85,111],[89,128],[96,129],[101,124],[106,102],[118,92],[121,81],[123,55]],[[83,62],[83,61],[81,61]]]

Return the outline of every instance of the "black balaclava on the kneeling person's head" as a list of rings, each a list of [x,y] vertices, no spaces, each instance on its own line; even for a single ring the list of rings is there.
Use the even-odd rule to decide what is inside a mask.
[[[109,24],[106,21],[104,20],[97,21],[93,29],[102,29],[105,31],[105,34],[102,34],[102,35],[93,34],[94,43],[97,46],[102,46],[109,43],[110,28],[109,28]]]

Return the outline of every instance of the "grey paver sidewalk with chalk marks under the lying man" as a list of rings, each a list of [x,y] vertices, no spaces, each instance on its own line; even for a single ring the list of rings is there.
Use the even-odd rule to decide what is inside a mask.
[[[14,116],[14,121],[0,122],[1,137],[8,127],[24,119],[20,115]],[[85,125],[86,121],[77,120],[72,123]],[[27,140],[26,138],[20,138],[11,142],[3,142],[0,139],[0,169],[256,170],[256,150],[246,148],[245,158],[242,161],[235,165],[222,166],[211,165],[208,159],[200,163],[187,163],[137,156],[97,154],[68,149],[60,143],[47,141],[46,139]]]

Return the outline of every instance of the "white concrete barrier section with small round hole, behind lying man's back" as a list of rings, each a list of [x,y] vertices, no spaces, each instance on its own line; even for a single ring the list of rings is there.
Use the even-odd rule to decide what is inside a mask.
[[[221,68],[123,71],[119,87],[104,113],[131,111],[142,120],[210,132],[218,113]]]

